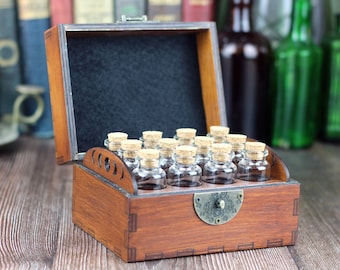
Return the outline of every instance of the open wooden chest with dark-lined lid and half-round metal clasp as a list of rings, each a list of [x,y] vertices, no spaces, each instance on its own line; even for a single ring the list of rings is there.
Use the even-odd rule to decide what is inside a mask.
[[[73,163],[73,222],[126,262],[293,245],[300,185],[271,180],[137,189],[110,131],[226,125],[214,23],[59,25],[46,31],[56,159]],[[218,207],[223,200],[225,207]]]

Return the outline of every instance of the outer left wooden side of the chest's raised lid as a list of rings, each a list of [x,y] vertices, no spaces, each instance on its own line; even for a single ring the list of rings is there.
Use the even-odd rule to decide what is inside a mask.
[[[62,71],[62,55],[58,27],[45,32],[47,72],[50,86],[53,129],[55,133],[56,160],[63,164],[72,159],[70,142],[67,136],[68,120],[64,95],[64,77]]]

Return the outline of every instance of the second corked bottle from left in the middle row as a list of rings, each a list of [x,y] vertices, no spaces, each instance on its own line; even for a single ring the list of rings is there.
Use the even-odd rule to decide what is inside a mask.
[[[162,138],[159,140],[160,166],[168,174],[169,168],[175,163],[174,153],[178,141],[174,138]]]

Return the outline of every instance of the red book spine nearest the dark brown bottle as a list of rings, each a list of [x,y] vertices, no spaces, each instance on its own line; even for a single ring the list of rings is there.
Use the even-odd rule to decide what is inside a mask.
[[[184,22],[213,21],[215,19],[214,0],[182,0],[182,20]]]

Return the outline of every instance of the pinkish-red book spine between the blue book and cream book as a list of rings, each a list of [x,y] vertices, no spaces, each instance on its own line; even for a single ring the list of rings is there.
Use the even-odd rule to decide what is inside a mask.
[[[73,0],[50,0],[51,25],[73,23]]]

